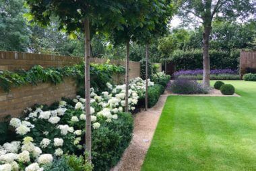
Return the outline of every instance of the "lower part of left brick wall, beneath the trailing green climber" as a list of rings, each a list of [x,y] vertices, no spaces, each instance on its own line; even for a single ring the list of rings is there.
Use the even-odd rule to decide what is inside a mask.
[[[75,97],[77,92],[75,80],[67,78],[61,84],[42,83],[13,88],[9,93],[0,89],[0,118],[6,115],[18,117],[26,107],[32,105],[51,105],[61,97]]]

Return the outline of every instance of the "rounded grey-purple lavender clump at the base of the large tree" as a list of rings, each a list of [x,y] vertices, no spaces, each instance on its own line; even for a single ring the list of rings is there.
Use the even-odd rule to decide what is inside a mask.
[[[170,91],[177,94],[207,94],[209,90],[196,80],[177,78],[170,83]]]

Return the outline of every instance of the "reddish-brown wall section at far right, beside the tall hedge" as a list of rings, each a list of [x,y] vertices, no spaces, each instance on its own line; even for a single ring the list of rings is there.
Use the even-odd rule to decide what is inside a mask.
[[[256,51],[241,51],[240,53],[240,74],[243,76],[247,68],[256,70]]]

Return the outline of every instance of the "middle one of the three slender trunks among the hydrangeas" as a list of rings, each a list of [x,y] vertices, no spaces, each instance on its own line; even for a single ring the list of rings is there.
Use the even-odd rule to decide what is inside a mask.
[[[130,51],[130,40],[126,42],[126,72],[125,72],[125,112],[129,111],[128,97],[129,97],[129,51]]]

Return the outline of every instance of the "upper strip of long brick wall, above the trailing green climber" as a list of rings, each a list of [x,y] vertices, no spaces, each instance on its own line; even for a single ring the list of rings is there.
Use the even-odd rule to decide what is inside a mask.
[[[0,51],[0,70],[28,70],[34,65],[43,67],[49,66],[70,66],[82,62],[84,58],[73,56],[57,56],[49,54],[30,54],[24,52],[7,52]],[[100,58],[90,58],[90,62],[103,64],[107,60]],[[125,60],[110,60],[110,64],[121,65],[125,67]],[[139,76],[140,64],[139,62],[130,61],[129,64],[130,78]]]

